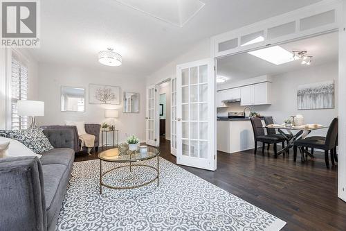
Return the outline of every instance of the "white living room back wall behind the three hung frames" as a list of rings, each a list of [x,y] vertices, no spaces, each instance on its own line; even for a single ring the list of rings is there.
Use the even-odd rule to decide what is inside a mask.
[[[114,67],[116,68],[116,67]],[[89,104],[89,83],[119,86],[122,92],[140,94],[140,112],[122,113],[120,105]],[[83,87],[86,89],[85,112],[60,112],[61,86]],[[39,64],[39,100],[45,102],[45,116],[39,117],[40,125],[64,124],[65,120],[85,121],[86,123],[110,122],[104,118],[105,109],[119,110],[116,129],[119,141],[125,141],[126,135],[136,135],[145,140],[145,79],[134,76],[120,76],[111,72],[93,69],[69,67],[64,65]]]

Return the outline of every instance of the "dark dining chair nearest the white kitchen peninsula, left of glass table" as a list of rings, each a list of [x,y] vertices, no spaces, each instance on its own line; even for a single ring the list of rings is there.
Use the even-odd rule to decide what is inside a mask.
[[[264,128],[262,127],[262,121],[260,118],[253,117],[250,118],[251,125],[253,126],[253,137],[255,140],[255,154],[257,153],[257,142],[262,142],[262,153],[264,153],[265,144],[274,144],[274,155],[277,157],[277,143],[283,143],[282,148],[284,148],[284,142],[286,139],[283,137],[278,137],[276,135],[265,135]]]

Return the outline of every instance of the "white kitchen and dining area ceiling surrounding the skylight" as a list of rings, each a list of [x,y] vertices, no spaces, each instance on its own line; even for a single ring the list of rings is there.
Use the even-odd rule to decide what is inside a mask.
[[[274,65],[248,53],[240,53],[217,60],[217,75],[227,77],[228,81],[237,81],[264,74],[273,76],[338,60],[337,32],[289,42],[280,46],[287,51],[307,51],[309,55],[313,55],[311,65],[302,65],[302,60]]]

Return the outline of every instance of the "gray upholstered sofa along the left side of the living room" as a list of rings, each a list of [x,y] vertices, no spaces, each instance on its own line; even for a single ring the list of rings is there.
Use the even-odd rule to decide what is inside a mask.
[[[0,159],[0,230],[55,230],[71,176],[73,129],[44,130],[54,149],[42,157]]]

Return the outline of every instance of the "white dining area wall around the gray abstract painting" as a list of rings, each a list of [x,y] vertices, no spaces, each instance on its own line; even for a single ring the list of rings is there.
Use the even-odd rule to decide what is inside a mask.
[[[334,80],[334,109],[297,110],[298,85]],[[328,126],[334,117],[338,116],[338,62],[320,66],[311,66],[298,71],[291,71],[278,76],[272,76],[272,104],[257,105],[251,108],[264,116],[271,116],[275,123],[284,123],[291,115],[302,114],[305,123],[320,123]],[[230,108],[219,108],[218,116],[227,116],[227,112],[244,110],[239,103],[233,103]],[[316,130],[311,135],[326,135],[327,129]]]

